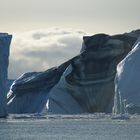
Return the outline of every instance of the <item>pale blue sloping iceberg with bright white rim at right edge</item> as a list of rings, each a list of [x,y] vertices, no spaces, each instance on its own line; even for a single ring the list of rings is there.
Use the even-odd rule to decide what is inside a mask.
[[[114,113],[140,113],[140,38],[117,66]]]

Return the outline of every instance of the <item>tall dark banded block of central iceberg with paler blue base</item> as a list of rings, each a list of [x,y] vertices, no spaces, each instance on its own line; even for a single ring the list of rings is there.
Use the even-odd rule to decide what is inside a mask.
[[[80,57],[73,60],[49,93],[48,112],[112,112],[116,65],[131,49],[120,38],[125,36],[84,37]]]

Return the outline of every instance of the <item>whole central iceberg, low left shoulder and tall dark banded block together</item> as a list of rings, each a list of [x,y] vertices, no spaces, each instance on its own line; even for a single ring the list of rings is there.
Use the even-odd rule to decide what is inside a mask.
[[[76,57],[44,72],[23,74],[14,81],[8,93],[8,112],[112,112],[116,66],[138,37],[137,31],[83,37]]]

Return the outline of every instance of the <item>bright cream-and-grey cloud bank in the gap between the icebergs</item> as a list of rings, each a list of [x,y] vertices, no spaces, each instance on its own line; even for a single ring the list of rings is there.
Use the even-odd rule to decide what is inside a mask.
[[[13,35],[9,78],[25,72],[43,71],[76,56],[86,33],[81,30],[49,28]]]

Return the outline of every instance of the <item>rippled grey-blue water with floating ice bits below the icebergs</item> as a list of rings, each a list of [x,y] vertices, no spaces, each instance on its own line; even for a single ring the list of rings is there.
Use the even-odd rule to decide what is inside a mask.
[[[139,140],[140,116],[112,114],[10,115],[0,140]]]

